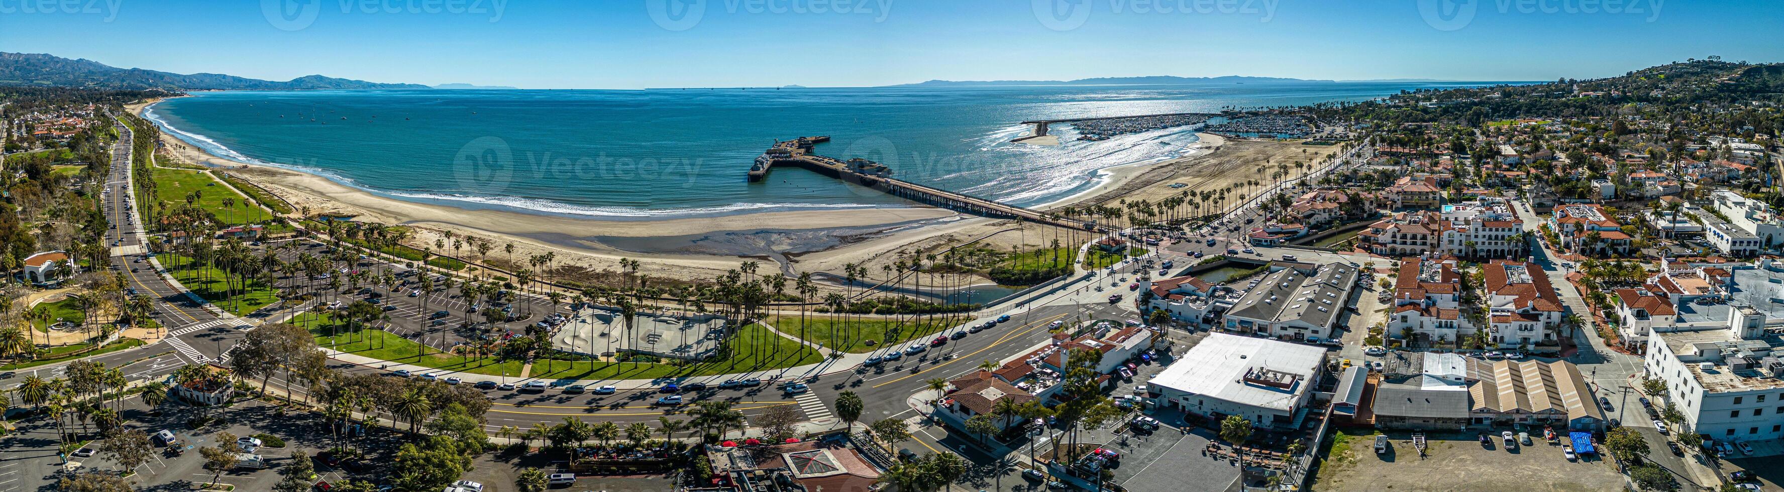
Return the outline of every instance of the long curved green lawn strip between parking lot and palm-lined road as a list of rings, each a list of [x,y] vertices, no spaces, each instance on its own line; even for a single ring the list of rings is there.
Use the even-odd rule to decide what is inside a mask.
[[[462,371],[473,374],[491,374],[491,376],[519,376],[519,360],[498,360],[489,358],[471,358],[451,353],[441,353],[434,348],[426,348],[416,340],[403,339],[400,335],[384,330],[360,330],[353,333],[330,333],[330,321],[325,314],[300,314],[291,321],[293,324],[310,328],[316,333],[316,344],[344,351],[359,357],[371,357],[378,360],[389,360],[396,364],[412,364],[423,367],[437,367],[450,371]],[[346,326],[334,326],[335,330],[346,330]],[[698,365],[669,365],[669,364],[637,364],[632,362],[587,362],[587,360],[549,360],[541,358],[533,362],[532,378],[549,378],[549,380],[640,380],[640,378],[662,378],[662,376],[710,376],[710,374],[730,374],[742,371],[764,371],[764,369],[781,369],[805,364],[817,364],[822,357],[794,340],[769,333],[762,326],[751,324],[739,332],[737,339],[731,342],[739,357],[703,362]]]

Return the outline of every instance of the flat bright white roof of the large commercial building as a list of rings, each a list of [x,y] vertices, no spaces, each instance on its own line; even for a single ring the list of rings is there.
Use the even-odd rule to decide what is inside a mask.
[[[1324,348],[1210,333],[1149,383],[1233,403],[1290,410],[1297,401],[1295,396],[1308,392],[1313,373],[1324,362]],[[1245,383],[1245,371],[1258,367],[1299,374],[1301,380],[1290,389]]]

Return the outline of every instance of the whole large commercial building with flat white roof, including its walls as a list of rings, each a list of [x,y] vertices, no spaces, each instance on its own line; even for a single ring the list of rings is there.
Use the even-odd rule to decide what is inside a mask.
[[[1293,430],[1306,417],[1324,364],[1324,348],[1210,333],[1147,385],[1163,408]]]

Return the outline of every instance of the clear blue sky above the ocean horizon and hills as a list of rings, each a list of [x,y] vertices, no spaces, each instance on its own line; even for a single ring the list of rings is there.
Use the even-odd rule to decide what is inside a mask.
[[[573,89],[1552,80],[1706,55],[1784,61],[1780,18],[1770,0],[0,0],[0,50],[271,80]]]

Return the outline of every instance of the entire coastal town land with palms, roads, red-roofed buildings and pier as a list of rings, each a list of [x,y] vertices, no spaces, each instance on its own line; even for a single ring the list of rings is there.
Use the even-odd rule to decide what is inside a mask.
[[[794,137],[1022,239],[664,278],[318,209],[169,144],[177,91],[0,87],[0,488],[1784,490],[1780,94],[1079,121],[1220,150],[1051,209]]]

